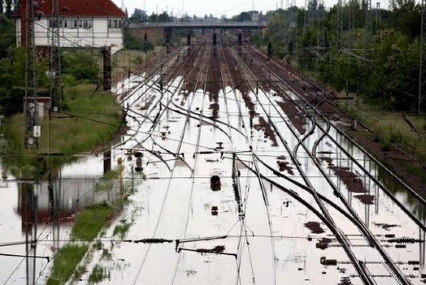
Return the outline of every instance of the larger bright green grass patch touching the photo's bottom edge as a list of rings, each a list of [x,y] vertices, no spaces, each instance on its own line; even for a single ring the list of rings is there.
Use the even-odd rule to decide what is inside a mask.
[[[53,259],[52,273],[47,280],[47,285],[65,284],[87,249],[88,246],[73,244],[63,247]]]

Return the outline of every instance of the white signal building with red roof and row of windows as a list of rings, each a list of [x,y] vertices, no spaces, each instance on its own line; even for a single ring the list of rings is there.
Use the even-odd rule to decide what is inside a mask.
[[[49,47],[51,27],[60,27],[63,48],[101,48],[112,52],[123,48],[125,13],[111,0],[59,0],[59,23],[52,20],[52,1],[32,1],[34,5],[34,44]],[[17,45],[25,45],[26,1],[20,1],[16,23]],[[23,30],[24,27],[24,30]]]

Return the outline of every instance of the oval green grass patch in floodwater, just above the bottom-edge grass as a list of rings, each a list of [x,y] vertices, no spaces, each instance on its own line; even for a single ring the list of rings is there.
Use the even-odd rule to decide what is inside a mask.
[[[71,238],[92,241],[108,223],[114,207],[107,203],[93,205],[83,209],[75,218]]]

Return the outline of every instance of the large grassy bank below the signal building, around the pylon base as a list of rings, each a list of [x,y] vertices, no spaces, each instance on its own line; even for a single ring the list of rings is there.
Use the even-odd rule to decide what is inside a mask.
[[[67,161],[75,160],[74,154],[95,150],[112,139],[121,123],[121,106],[114,103],[114,96],[109,92],[96,92],[94,85],[84,84],[65,88],[64,97],[68,110],[65,114],[54,113],[49,121],[41,121],[42,135],[38,149],[25,149],[24,115],[17,114],[10,118],[4,133],[8,139],[8,152],[4,156],[6,165],[15,173],[27,177],[43,175],[48,165],[53,168]],[[61,118],[56,117],[62,116]],[[99,149],[99,148],[98,148]],[[62,156],[50,156],[47,153],[61,153]]]

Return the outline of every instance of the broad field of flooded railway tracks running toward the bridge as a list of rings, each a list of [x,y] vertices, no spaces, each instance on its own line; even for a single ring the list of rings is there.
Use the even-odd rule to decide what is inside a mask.
[[[308,91],[295,88],[285,67],[252,49],[204,45],[170,57],[167,76],[153,73],[125,99],[134,118],[119,147],[146,154],[129,235],[175,243],[123,244],[118,255],[138,254],[122,282],[420,284],[424,223],[320,113],[327,98],[309,96],[323,90],[302,78]],[[222,190],[209,188],[211,175]],[[374,212],[348,175],[374,196]]]

